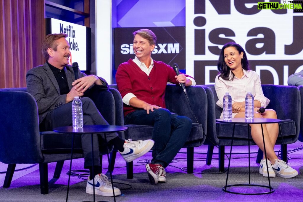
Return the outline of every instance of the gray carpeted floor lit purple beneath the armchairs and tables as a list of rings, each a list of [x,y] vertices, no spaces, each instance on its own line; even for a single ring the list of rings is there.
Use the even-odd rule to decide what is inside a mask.
[[[117,196],[116,201],[303,201],[303,150],[301,142],[288,146],[289,163],[299,172],[295,178],[271,178],[271,186],[275,192],[263,195],[239,195],[222,191],[225,185],[226,173],[218,172],[217,155],[214,155],[210,166],[205,165],[207,146],[195,148],[194,174],[187,174],[181,168],[186,167],[186,152],[181,149],[175,161],[166,168],[167,182],[164,184],[151,185],[145,171],[144,164],[151,158],[151,153],[140,157],[134,162],[134,178],[126,178],[125,162],[118,154],[113,172],[114,185],[121,189],[122,195]],[[267,178],[259,174],[259,165],[255,163],[258,148],[251,146],[251,184],[268,185]],[[277,154],[279,146],[275,147]],[[183,152],[183,153],[182,153]],[[214,153],[218,152],[217,149]],[[225,152],[229,152],[226,147]],[[233,147],[231,169],[228,184],[248,183],[248,152],[247,146]],[[228,160],[225,160],[225,167]],[[107,157],[103,156],[103,168],[107,168]],[[52,175],[55,163],[48,165],[49,169],[49,194],[40,194],[39,170],[36,169],[27,175],[12,181],[10,188],[0,187],[0,201],[65,201],[67,192],[69,161],[66,161],[61,177],[53,180]],[[83,159],[75,159],[72,163],[72,170],[83,170]],[[107,169],[103,170],[104,174]],[[17,172],[16,172],[17,173]],[[17,175],[15,173],[15,175]],[[76,172],[85,174],[85,172]],[[87,176],[83,176],[87,178]],[[122,184],[119,184],[122,183]],[[71,186],[68,201],[93,201],[92,194],[85,193],[86,180],[76,176],[71,177]],[[268,191],[259,187],[235,187],[232,191],[260,192]],[[114,201],[113,197],[102,197],[96,195],[96,200]]]

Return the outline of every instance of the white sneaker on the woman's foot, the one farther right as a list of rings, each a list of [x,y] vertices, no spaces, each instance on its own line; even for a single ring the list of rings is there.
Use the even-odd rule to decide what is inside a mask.
[[[282,178],[293,178],[298,175],[298,171],[291,168],[288,163],[279,159],[276,159],[276,162],[274,165],[272,165],[272,168],[274,169],[276,175]]]

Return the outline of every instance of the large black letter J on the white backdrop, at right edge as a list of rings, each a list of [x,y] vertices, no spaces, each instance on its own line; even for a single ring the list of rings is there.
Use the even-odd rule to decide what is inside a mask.
[[[285,9],[286,10],[286,9]],[[302,51],[303,49],[303,26],[302,26],[303,16],[294,16],[292,25],[292,44],[285,45],[285,55],[295,55]],[[285,36],[290,37],[290,36]]]

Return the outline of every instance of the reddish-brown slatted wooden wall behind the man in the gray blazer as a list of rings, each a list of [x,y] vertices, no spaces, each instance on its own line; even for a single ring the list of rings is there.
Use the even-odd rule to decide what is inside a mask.
[[[26,72],[45,62],[43,0],[0,0],[0,88],[25,87]]]

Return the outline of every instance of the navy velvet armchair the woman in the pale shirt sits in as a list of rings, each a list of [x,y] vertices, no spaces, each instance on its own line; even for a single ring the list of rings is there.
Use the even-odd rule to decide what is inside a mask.
[[[225,146],[231,145],[231,136],[233,124],[216,123],[220,118],[222,108],[215,104],[218,97],[214,85],[201,85],[205,88],[208,96],[208,128],[205,144],[208,145],[208,155],[206,164],[211,164],[214,144],[219,148],[219,171],[224,171]],[[301,117],[301,97],[300,92],[295,86],[283,85],[261,85],[265,97],[270,99],[266,108],[274,109],[279,123],[279,135],[276,141],[281,145],[281,159],[287,161],[287,144],[297,141],[300,129]],[[236,124],[233,145],[248,145],[248,127],[246,124]],[[252,138],[249,138],[250,144],[255,145]],[[260,162],[263,152],[259,149],[257,162]]]

